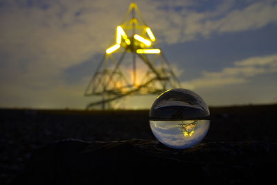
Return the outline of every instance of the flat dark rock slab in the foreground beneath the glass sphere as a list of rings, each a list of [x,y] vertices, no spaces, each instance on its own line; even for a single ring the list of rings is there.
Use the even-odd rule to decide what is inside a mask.
[[[174,150],[159,141],[63,140],[33,153],[11,184],[265,184],[277,169],[277,144],[199,143]]]

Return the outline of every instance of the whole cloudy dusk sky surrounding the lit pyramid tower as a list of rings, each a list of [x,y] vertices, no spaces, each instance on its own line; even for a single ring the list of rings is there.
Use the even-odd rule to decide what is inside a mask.
[[[83,109],[128,0],[0,0],[0,107]],[[209,106],[277,103],[277,1],[134,1],[183,88]],[[153,96],[127,97],[149,109]]]

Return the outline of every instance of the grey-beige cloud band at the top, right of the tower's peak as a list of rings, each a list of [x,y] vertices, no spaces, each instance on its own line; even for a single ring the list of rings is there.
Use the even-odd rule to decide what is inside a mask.
[[[258,29],[277,22],[276,1],[253,1],[242,7],[236,7],[235,1],[222,1],[215,10],[203,12],[191,10],[188,4],[184,4],[180,12],[176,12],[175,7],[152,15],[157,20],[153,26],[159,31],[160,39],[168,44],[187,42],[200,36],[208,38],[213,33]],[[161,17],[164,18],[161,20]]]

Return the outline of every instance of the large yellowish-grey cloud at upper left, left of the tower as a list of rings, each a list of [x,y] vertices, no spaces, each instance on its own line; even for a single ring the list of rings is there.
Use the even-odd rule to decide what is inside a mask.
[[[65,69],[105,51],[128,7],[117,3],[6,1],[0,11],[1,86],[49,90],[62,83]]]

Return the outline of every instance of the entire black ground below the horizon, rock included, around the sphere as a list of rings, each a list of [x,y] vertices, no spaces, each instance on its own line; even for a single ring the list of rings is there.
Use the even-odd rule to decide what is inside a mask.
[[[276,110],[211,107],[204,141],[172,150],[149,111],[0,109],[0,184],[265,184],[277,172]]]

